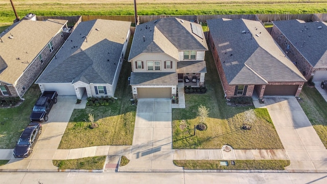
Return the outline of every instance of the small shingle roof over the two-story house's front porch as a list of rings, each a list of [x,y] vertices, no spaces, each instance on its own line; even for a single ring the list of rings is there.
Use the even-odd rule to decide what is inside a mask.
[[[205,61],[178,61],[177,73],[206,73]]]

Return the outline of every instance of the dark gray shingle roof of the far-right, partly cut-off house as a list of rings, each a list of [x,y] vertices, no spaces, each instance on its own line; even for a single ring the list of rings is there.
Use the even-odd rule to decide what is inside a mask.
[[[273,21],[273,24],[313,67],[327,67],[327,25],[297,19]]]

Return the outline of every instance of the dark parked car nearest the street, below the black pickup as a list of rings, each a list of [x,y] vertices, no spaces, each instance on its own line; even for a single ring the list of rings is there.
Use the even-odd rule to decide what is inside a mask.
[[[21,133],[14,149],[15,158],[26,158],[33,152],[33,147],[42,132],[42,126],[39,123],[30,123]]]

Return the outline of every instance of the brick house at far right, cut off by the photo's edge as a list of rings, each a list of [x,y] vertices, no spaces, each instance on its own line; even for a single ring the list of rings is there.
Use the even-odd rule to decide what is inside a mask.
[[[327,79],[327,25],[302,20],[273,21],[271,36],[309,80]]]

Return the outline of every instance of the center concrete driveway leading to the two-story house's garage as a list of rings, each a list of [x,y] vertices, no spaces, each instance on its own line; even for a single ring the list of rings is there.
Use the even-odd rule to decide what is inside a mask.
[[[173,164],[171,106],[170,99],[138,100],[131,161],[120,171],[182,170]]]

